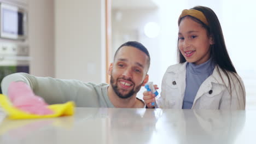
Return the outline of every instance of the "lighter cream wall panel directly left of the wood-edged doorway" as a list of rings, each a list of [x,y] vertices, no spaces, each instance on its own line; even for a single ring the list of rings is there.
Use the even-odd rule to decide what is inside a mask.
[[[106,82],[104,1],[56,0],[54,5],[55,76]]]

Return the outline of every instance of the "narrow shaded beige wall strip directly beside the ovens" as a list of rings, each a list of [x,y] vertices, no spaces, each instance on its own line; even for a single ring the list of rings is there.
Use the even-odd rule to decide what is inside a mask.
[[[29,0],[28,7],[30,73],[54,77],[54,1]]]

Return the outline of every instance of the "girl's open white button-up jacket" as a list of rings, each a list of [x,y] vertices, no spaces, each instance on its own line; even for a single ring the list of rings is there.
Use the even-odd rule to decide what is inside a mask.
[[[182,109],[186,87],[186,65],[179,63],[167,68],[162,79],[161,96],[156,100],[160,108]],[[222,77],[218,73],[218,69]],[[231,83],[231,94],[228,77],[218,66],[197,91],[191,109],[232,109],[245,110],[245,86],[240,76],[228,72]],[[223,80],[222,80],[223,79]],[[240,86],[241,83],[241,86]]]

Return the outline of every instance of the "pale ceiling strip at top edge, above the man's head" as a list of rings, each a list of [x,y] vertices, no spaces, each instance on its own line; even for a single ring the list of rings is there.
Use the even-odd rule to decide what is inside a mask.
[[[112,9],[155,9],[152,0],[111,0]]]

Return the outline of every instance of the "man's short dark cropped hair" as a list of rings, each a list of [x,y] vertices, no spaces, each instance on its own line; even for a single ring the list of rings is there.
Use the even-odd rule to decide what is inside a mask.
[[[147,48],[144,45],[142,45],[141,43],[139,43],[137,41],[128,41],[128,42],[124,43],[123,45],[119,46],[117,51],[115,51],[114,59],[115,59],[115,56],[117,55],[118,51],[123,46],[132,46],[132,47],[135,47],[136,49],[139,49],[140,51],[146,53],[146,55],[148,56],[148,67],[149,67],[149,65],[150,65],[149,52],[148,52]]]

